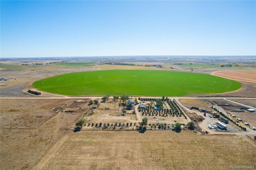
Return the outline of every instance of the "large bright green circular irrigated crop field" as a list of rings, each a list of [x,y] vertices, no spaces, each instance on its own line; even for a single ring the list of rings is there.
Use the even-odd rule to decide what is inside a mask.
[[[178,71],[104,70],[68,73],[36,81],[62,95],[185,96],[234,91],[241,83],[214,75]]]

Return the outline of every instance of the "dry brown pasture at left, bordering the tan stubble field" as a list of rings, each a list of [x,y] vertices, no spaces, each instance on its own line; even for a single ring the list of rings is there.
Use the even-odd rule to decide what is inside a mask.
[[[0,169],[31,169],[35,166],[83,114],[52,112],[55,107],[64,107],[70,101],[1,99]]]

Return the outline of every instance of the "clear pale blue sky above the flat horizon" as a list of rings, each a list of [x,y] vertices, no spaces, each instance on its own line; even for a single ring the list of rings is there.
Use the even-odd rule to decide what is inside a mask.
[[[1,57],[256,55],[256,1],[3,1]]]

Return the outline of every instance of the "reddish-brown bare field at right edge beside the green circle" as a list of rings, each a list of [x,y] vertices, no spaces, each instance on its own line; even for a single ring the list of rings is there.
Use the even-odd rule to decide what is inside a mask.
[[[237,81],[246,81],[256,83],[256,69],[254,70],[229,70],[229,71],[216,71],[212,73],[219,77],[225,77]]]

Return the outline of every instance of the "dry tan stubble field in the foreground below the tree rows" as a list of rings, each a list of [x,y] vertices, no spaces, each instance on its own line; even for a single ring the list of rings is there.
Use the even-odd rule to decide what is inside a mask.
[[[70,133],[44,169],[229,169],[255,166],[255,150],[246,136],[81,130]]]

